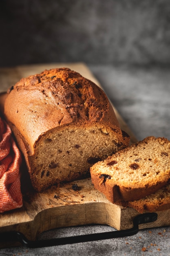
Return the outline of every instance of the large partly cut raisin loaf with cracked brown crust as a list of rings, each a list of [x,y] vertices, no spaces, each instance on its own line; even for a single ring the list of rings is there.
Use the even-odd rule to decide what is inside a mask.
[[[86,176],[130,140],[103,90],[68,68],[21,79],[8,90],[4,115],[37,191]]]

